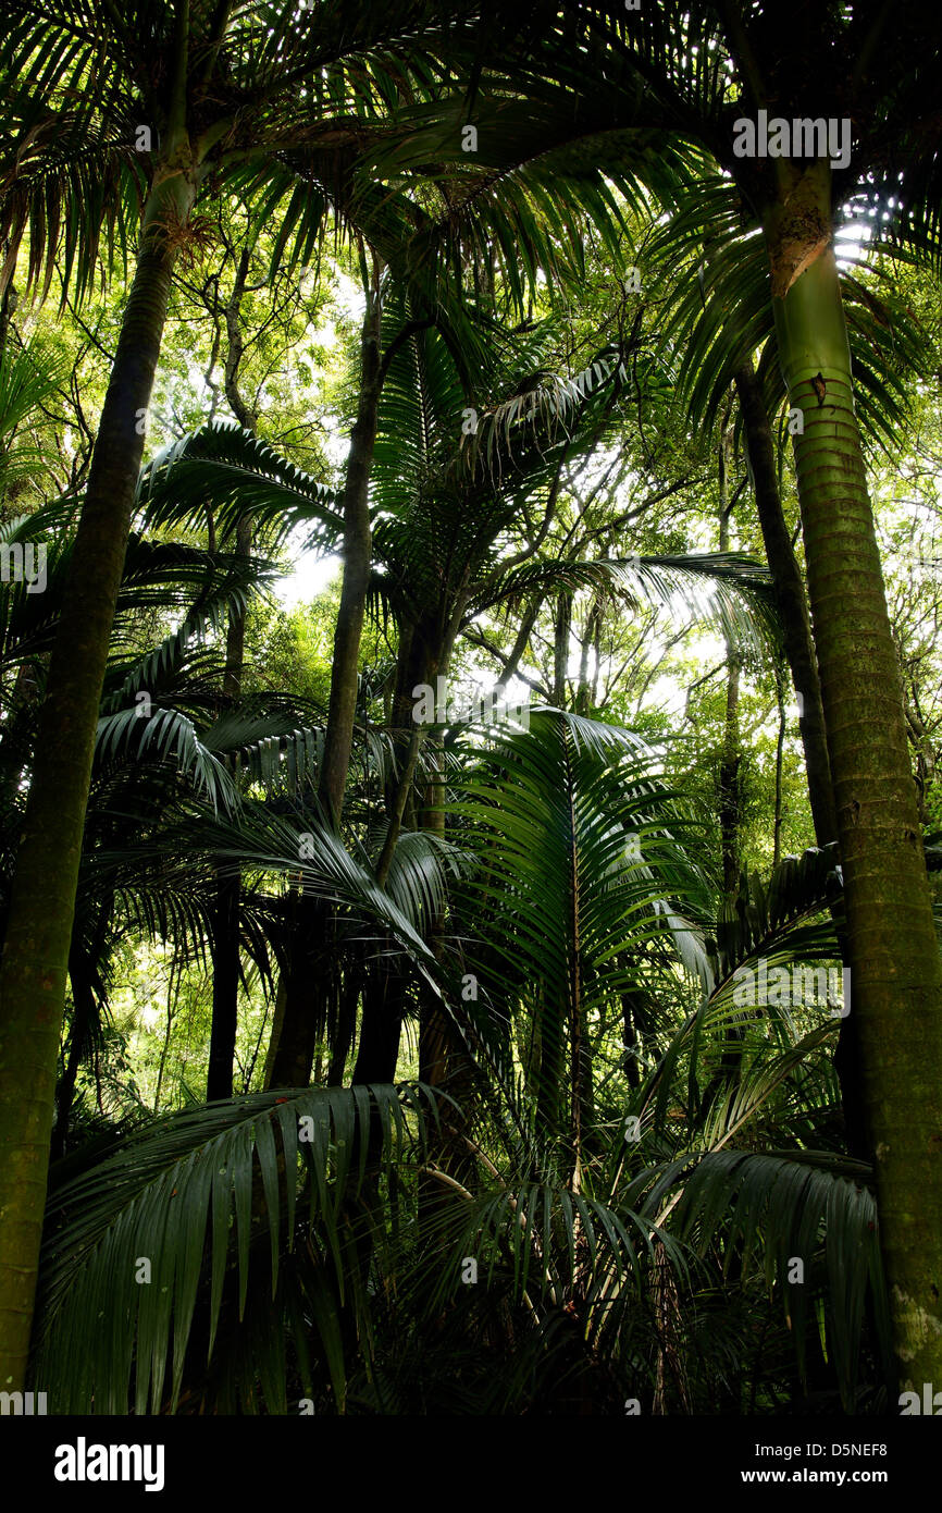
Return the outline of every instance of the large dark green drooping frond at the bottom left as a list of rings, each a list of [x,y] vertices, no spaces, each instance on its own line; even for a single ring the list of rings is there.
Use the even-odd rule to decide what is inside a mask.
[[[343,1300],[343,1215],[364,1182],[373,1121],[389,1163],[407,1157],[426,1117],[420,1086],[275,1089],[157,1120],[59,1186],[36,1357],[59,1412],[175,1410],[194,1353],[213,1354],[224,1295],[242,1319],[249,1272],[263,1266],[274,1298],[298,1241],[318,1247]],[[315,1315],[315,1331],[342,1401],[336,1319]]]

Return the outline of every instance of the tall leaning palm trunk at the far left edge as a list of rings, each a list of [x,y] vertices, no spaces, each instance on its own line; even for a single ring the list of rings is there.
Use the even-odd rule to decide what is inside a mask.
[[[65,973],[98,701],[166,319],[195,198],[186,139],[157,169],[50,658],[0,967],[0,1387],[23,1386],[42,1233]]]

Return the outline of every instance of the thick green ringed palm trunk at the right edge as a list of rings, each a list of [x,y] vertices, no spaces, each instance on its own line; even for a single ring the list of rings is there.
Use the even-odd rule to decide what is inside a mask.
[[[821,238],[829,194],[815,165],[765,235],[782,368],[804,421],[798,498],[880,1239],[901,1386],[921,1389],[942,1381],[942,962],[838,269]]]

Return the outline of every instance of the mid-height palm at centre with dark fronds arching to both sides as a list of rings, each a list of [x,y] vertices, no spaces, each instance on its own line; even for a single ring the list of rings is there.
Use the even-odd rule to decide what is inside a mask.
[[[467,395],[443,337],[434,330],[410,330],[408,322],[401,330],[408,339],[393,354],[380,401],[370,501],[372,601],[398,631],[392,735],[402,761],[386,791],[389,825],[380,843],[378,878],[404,823],[443,834],[442,753],[428,755],[440,732],[426,737],[420,753],[413,690],[448,673],[458,638],[473,631],[482,613],[525,601],[532,625],[540,605],[561,586],[575,592],[606,584],[629,602],[656,604],[673,604],[682,587],[694,611],[718,619],[739,640],[761,637],[768,613],[764,573],[735,555],[624,558],[602,552],[585,560],[578,539],[562,561],[540,551],[559,498],[562,463],[587,454],[612,424],[617,353],[599,354],[572,380],[558,378],[540,363],[547,333],[531,331],[522,350],[514,343],[507,354],[499,353],[482,374],[482,386],[490,387],[484,396],[473,395],[482,409],[475,445],[469,446],[457,425]],[[487,398],[491,404],[485,409]],[[520,505],[540,495],[543,528],[522,537]],[[334,496],[272,448],[230,427],[206,427],[154,458],[144,475],[142,498],[153,522],[177,525],[192,522],[207,507],[225,523],[242,498],[262,528],[277,522],[284,531],[290,520],[307,522],[315,525],[318,545],[331,537],[340,543]],[[522,651],[523,645],[517,655]],[[511,673],[513,667],[505,667],[502,681]],[[325,740],[330,744],[330,732]],[[310,920],[299,920],[298,935],[299,950],[311,949],[311,935],[318,949]],[[322,962],[319,977],[327,982],[334,974],[336,961]],[[280,1085],[310,1076],[325,1018],[324,1009],[313,1008],[310,977],[308,962],[307,971],[298,971],[301,991],[292,993],[289,982],[272,1070]],[[395,1076],[402,1002],[395,1011],[393,988],[383,976],[375,986],[376,994],[364,997],[363,1039],[381,1050],[364,1055],[357,1076],[369,1067],[369,1080],[386,1082]],[[401,982],[399,1000],[404,991]],[[442,1039],[438,1070],[423,1064],[425,1080],[434,1083],[446,1076],[448,1026],[435,999],[428,1000],[423,1017],[437,1026],[434,1035],[426,1033],[426,1044]]]

